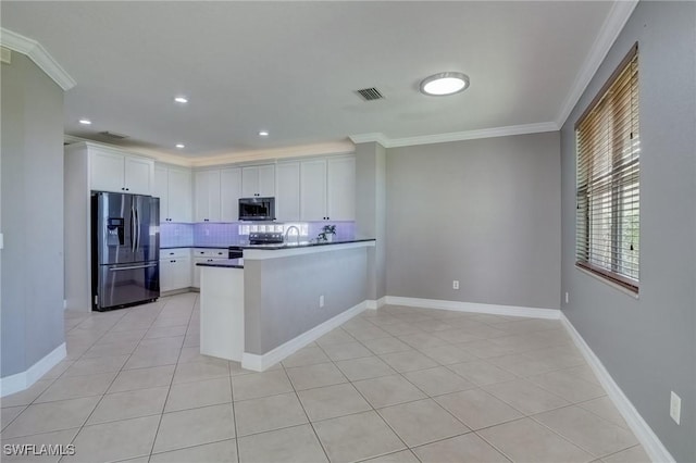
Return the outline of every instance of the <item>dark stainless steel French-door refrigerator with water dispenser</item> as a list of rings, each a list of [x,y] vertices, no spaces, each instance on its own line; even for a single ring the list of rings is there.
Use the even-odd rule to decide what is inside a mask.
[[[92,310],[105,311],[160,297],[160,200],[92,192]]]

